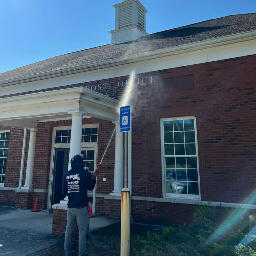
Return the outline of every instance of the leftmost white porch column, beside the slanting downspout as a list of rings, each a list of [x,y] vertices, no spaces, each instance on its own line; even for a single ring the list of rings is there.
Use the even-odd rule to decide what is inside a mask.
[[[36,147],[36,132],[37,129],[29,128],[29,147],[28,147],[28,159],[27,159],[27,169],[26,169],[26,179],[25,185],[22,188],[33,188],[33,171],[34,171],[34,159],[35,159],[35,147]]]

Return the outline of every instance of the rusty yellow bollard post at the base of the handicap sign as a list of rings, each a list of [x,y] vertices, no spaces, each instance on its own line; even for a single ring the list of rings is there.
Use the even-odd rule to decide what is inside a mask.
[[[130,189],[121,190],[121,253],[130,255]]]

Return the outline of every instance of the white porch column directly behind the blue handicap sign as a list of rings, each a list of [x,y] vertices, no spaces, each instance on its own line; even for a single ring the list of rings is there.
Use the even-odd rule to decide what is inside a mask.
[[[120,132],[120,122],[116,127],[115,138],[115,174],[114,174],[114,190],[110,195],[121,195],[121,189],[124,187],[124,148],[123,133]]]

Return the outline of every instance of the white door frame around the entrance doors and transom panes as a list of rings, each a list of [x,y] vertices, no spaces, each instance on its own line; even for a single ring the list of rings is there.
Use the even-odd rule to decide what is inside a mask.
[[[99,124],[94,123],[94,124],[83,124],[82,128],[98,128],[98,138],[99,138]],[[53,184],[53,171],[54,171],[54,153],[55,153],[55,148],[70,148],[70,143],[55,143],[55,133],[56,130],[69,130],[71,129],[71,125],[69,126],[56,126],[52,128],[52,147],[51,147],[51,157],[50,157],[50,170],[49,170],[49,180],[48,180],[48,195],[47,195],[47,210],[51,212],[51,198],[52,198],[52,186]],[[81,144],[81,150],[82,148],[94,148],[96,152],[96,166],[97,166],[97,154],[98,154],[98,141],[97,142],[82,142]],[[94,156],[95,158],[95,156]],[[96,185],[94,188],[95,192],[93,192],[93,200],[96,202]],[[93,190],[93,191],[94,191]],[[92,207],[93,213],[95,213],[95,203],[93,204]]]

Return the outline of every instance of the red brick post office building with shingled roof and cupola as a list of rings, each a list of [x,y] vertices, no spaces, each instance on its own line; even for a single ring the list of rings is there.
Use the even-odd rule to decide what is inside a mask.
[[[183,223],[204,202],[255,209],[256,13],[148,35],[140,1],[114,7],[111,44],[0,74],[0,204],[38,197],[62,235],[69,159],[82,151],[93,171],[116,126],[90,196],[95,215],[120,218],[130,95],[134,219]]]

